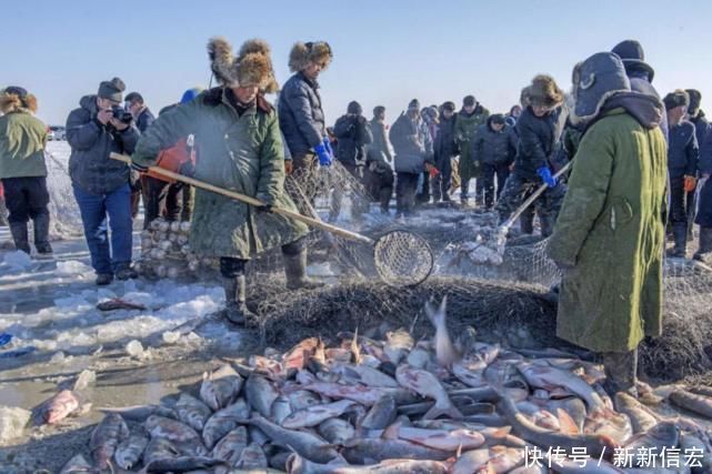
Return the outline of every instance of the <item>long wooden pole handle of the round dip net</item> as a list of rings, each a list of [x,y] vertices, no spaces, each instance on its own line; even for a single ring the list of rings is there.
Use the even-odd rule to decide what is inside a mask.
[[[118,160],[118,161],[123,161],[127,164],[131,164],[131,157],[127,157],[126,154],[120,154],[120,153],[111,153],[109,155],[112,160]],[[207,183],[204,181],[199,181],[194,178],[185,177],[183,174],[174,173],[170,170],[164,170],[160,167],[149,167],[149,170],[162,174],[166,178],[170,178],[176,181],[180,181],[185,184],[190,184],[191,186],[200,188],[205,191],[214,192],[217,194],[222,194],[228,198],[232,198],[234,200],[244,202],[245,204],[253,205],[255,208],[262,208],[264,206],[264,203],[258,199],[254,199],[249,195],[240,194],[239,192],[230,191],[223,188],[219,188],[217,185]],[[332,234],[340,235],[344,239],[350,239],[363,243],[368,243],[370,245],[373,245],[375,242],[373,239],[370,239],[365,235],[358,234],[355,232],[348,231],[345,229],[337,228],[335,225],[328,224],[321,220],[308,218],[305,215],[302,215],[298,212],[289,211],[287,209],[281,209],[281,208],[272,208],[272,212],[275,214],[284,215],[285,218],[293,219],[299,222],[303,222],[307,225],[310,225],[312,228],[321,229],[322,231],[331,232]]]

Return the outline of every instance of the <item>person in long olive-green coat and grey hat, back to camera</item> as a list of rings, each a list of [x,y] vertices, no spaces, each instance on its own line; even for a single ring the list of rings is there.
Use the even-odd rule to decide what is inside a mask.
[[[662,326],[663,108],[630,91],[613,53],[576,65],[573,82],[586,128],[549,242],[563,271],[556,335],[601,354],[609,393],[636,395],[638,345]]]

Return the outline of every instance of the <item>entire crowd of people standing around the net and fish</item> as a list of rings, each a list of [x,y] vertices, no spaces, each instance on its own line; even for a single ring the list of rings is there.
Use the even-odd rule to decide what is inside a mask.
[[[712,254],[712,133],[701,94],[680,89],[661,100],[640,43],[626,40],[575,64],[570,97],[539,74],[507,113],[490,113],[473,95],[459,111],[452,101],[422,108],[413,99],[390,127],[383,107],[367,120],[357,101],[327,127],[318,80],[333,52],[324,41],[294,44],[293,75],[275,105],[265,99],[279,85],[264,41],[247,41],[233,54],[218,38],[208,52],[219,85],[188,90],[158,118],[140,93],[124,98],[126,85],[114,78],[81,98],[67,119],[69,173],[97,284],[137,276],[131,232],[141,196],[146,225],[160,215],[192,220],[193,251],[220,260],[223,314],[243,324],[254,317],[244,271],[253,255],[279,246],[289,289],[321,284],[305,271],[308,229],[271,212],[297,210],[284,191],[288,174],[308,183],[337,160],[383,213],[394,193],[403,219],[431,201],[452,201],[459,188],[461,204],[473,195],[475,206],[497,210],[503,221],[545,185],[522,214],[521,230],[532,233],[536,215],[542,235],[551,236],[550,256],[563,272],[558,335],[601,353],[614,389],[634,392],[636,346],[661,331],[666,229],[673,256],[686,255],[693,222],[700,225],[695,258]],[[38,254],[50,254],[47,133],[34,118],[37,99],[8,87],[0,110],[12,239],[30,252],[31,219]],[[131,155],[132,164],[111,152]],[[563,173],[569,162],[572,171]],[[153,165],[262,205],[193,190]],[[343,190],[332,191],[338,214]]]

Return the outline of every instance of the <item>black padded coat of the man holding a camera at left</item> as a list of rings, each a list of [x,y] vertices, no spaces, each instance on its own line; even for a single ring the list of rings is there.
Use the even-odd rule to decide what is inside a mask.
[[[72,149],[69,175],[72,184],[91,194],[108,194],[129,183],[129,165],[109,158],[109,153],[131,154],[139,132],[130,125],[118,131],[97,120],[97,95],[84,95],[79,109],[67,118],[67,141]]]

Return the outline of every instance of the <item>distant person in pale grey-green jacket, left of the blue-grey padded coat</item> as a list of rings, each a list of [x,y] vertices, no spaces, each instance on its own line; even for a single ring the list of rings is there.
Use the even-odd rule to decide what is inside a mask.
[[[385,108],[373,108],[373,119],[370,122],[373,142],[368,147],[363,185],[374,201],[378,201],[383,214],[389,213],[389,204],[393,195],[393,157],[388,144],[385,131]]]

